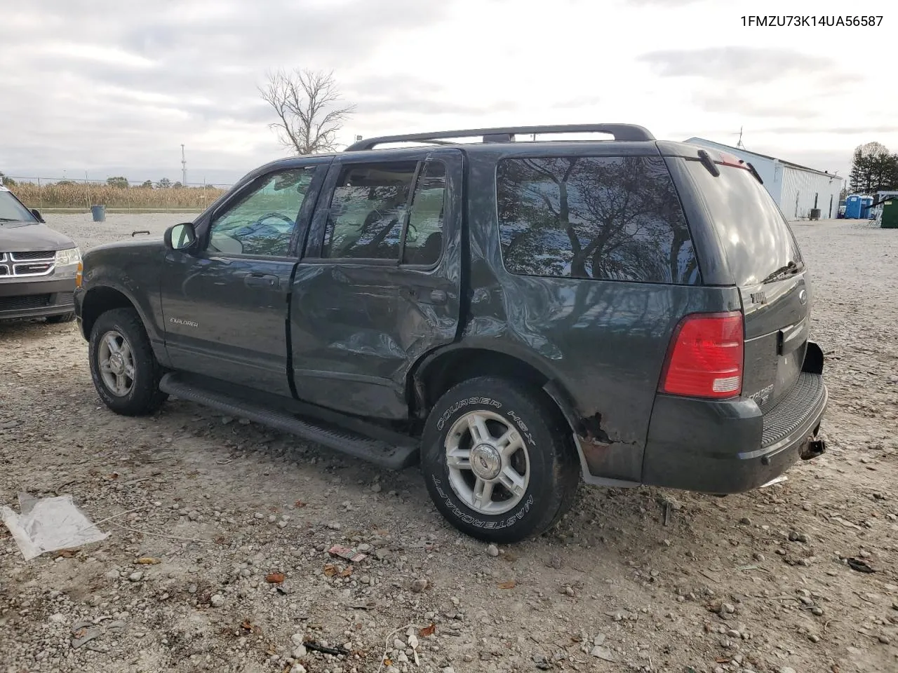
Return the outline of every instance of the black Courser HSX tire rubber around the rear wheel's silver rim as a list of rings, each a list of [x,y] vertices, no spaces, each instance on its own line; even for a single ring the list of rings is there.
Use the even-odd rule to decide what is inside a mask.
[[[465,503],[450,481],[447,465],[445,447],[453,424],[478,410],[500,415],[507,427],[521,434],[529,455],[529,481],[523,496],[512,510],[496,515]],[[501,425],[494,427],[501,433]],[[492,430],[490,434],[495,436]],[[550,529],[570,509],[580,484],[577,450],[558,409],[540,390],[495,377],[466,380],[437,401],[424,429],[421,470],[436,508],[456,529],[472,538],[503,544]],[[467,473],[456,473],[456,479],[459,474]],[[471,473],[471,480],[473,477]],[[511,499],[511,492],[500,489],[500,494],[503,491]]]

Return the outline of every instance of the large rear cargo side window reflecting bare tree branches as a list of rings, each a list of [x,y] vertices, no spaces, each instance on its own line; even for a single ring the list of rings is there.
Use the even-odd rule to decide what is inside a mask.
[[[502,257],[520,275],[696,284],[698,264],[660,157],[507,159]]]

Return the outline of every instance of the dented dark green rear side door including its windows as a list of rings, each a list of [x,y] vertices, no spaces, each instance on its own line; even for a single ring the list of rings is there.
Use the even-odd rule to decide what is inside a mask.
[[[461,151],[427,148],[333,162],[293,284],[298,398],[408,415],[409,368],[458,331],[462,170]]]

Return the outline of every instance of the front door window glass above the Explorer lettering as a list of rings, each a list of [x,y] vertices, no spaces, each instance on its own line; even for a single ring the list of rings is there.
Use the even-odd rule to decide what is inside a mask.
[[[281,170],[260,178],[239,203],[216,216],[208,250],[226,255],[286,255],[313,172]]]

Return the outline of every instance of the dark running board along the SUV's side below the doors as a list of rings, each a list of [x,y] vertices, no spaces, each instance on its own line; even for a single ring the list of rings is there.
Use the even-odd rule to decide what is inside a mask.
[[[314,441],[329,449],[337,450],[353,458],[366,460],[381,468],[400,470],[418,462],[418,446],[394,446],[386,441],[326,427],[323,424],[317,424],[312,419],[300,419],[287,412],[252,405],[214,390],[198,388],[180,380],[175,373],[165,374],[159,381],[159,389],[228,415],[248,418],[258,424],[295,434],[304,440]]]

